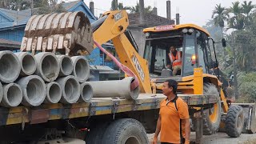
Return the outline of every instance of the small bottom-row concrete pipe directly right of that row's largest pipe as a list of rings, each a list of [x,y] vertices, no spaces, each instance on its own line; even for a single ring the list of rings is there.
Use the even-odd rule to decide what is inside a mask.
[[[62,98],[62,89],[58,82],[46,83],[46,99],[44,103],[58,103]]]

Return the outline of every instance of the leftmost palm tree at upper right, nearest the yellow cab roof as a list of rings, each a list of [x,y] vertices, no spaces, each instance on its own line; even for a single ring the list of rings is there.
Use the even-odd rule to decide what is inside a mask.
[[[223,38],[223,28],[225,25],[225,21],[227,21],[228,15],[226,14],[226,9],[225,7],[222,7],[221,4],[218,4],[215,6],[215,9],[213,11],[213,14],[211,18],[214,18],[214,25],[215,26],[220,26],[222,29],[222,38]]]

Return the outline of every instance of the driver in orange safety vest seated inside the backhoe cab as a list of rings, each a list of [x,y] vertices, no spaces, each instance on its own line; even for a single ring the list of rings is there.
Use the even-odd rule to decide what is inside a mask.
[[[172,66],[170,66],[172,63]],[[170,46],[170,53],[167,58],[167,68],[173,70],[175,76],[178,70],[182,69],[182,51],[177,51],[175,46]]]

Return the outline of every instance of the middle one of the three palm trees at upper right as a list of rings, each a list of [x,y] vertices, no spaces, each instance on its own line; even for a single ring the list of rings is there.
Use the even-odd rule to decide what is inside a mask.
[[[232,17],[229,18],[228,24],[230,28],[237,30],[244,29],[245,26],[245,16],[242,14],[242,6],[240,2],[232,2],[232,6],[227,9],[228,14],[232,14]]]

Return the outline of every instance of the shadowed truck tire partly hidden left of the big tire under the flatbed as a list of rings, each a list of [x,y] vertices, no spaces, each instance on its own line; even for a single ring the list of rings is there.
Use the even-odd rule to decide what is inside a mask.
[[[109,125],[109,122],[100,123],[97,126],[94,126],[90,129],[86,135],[86,143],[90,144],[99,144],[102,143],[103,135],[105,134],[106,128]]]

